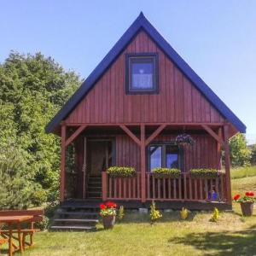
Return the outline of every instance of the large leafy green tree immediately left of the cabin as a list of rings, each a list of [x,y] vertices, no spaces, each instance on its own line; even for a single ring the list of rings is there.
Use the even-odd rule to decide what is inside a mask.
[[[0,64],[0,147],[11,140],[26,153],[26,172],[47,200],[57,198],[60,138],[44,127],[81,81],[50,57],[11,52]]]

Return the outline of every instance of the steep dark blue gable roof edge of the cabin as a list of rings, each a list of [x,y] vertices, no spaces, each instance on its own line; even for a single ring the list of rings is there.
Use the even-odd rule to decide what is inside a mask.
[[[189,67],[189,65],[183,60],[183,58],[177,54],[175,49],[172,48],[170,44],[166,42],[159,32],[156,31],[154,26],[145,18],[143,13],[141,13],[137,19],[131,24],[131,26],[126,30],[119,41],[113,46],[113,48],[108,52],[103,60],[98,64],[98,66],[90,73],[89,77],[84,80],[79,89],[71,96],[67,103],[61,108],[61,110],[56,113],[55,117],[51,119],[49,124],[45,127],[46,132],[52,132],[55,130],[56,126],[61,123],[61,120],[65,119],[69,113],[73,111],[78,103],[86,96],[90,89],[96,84],[96,81],[102,77],[107,68],[116,60],[123,49],[131,42],[139,31],[143,29],[144,32],[152,38],[160,49],[164,51],[166,56],[168,56],[175,65],[181,70],[181,72],[195,85],[197,90],[201,91],[202,95],[207,98],[212,106],[221,113],[225,119],[229,120],[236,129],[242,133],[246,132],[246,126],[238,119],[230,108],[228,108],[224,102],[222,102],[219,97],[207,86],[207,84],[195,73],[195,71]]]

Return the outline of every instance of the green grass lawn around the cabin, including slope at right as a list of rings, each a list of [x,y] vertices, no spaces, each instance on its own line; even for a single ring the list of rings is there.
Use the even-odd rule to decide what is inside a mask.
[[[256,191],[256,174],[246,176],[232,179],[233,194]],[[99,224],[91,233],[38,233],[36,246],[25,255],[256,255],[256,209],[253,217],[242,218],[235,204],[234,212],[221,212],[218,223],[209,222],[211,215],[191,212],[189,220],[181,221],[178,212],[168,212],[151,226],[148,216],[126,212],[113,230]]]

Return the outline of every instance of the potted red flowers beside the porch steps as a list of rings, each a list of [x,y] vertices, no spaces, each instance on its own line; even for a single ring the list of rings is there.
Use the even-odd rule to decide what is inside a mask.
[[[113,229],[116,216],[116,204],[112,201],[108,201],[106,204],[101,204],[100,208],[104,229]]]

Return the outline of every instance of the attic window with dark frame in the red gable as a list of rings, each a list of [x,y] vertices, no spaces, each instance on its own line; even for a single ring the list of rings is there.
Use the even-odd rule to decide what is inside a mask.
[[[150,94],[158,92],[157,55],[126,56],[126,93]]]

